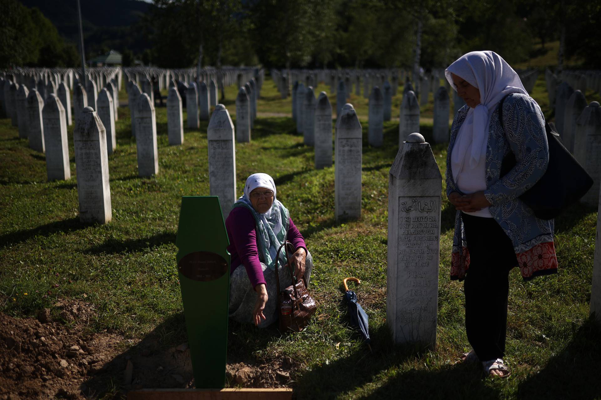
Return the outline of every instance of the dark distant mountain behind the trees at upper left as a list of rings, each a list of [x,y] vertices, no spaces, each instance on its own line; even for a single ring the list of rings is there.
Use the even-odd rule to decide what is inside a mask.
[[[68,41],[79,43],[77,0],[20,0],[37,7]],[[139,0],[80,0],[86,53],[109,49],[141,53],[150,43],[141,29],[132,29],[153,4]]]

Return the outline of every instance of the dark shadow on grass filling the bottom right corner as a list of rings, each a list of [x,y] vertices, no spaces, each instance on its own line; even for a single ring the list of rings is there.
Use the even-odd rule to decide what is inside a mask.
[[[601,396],[600,359],[601,329],[589,320],[545,368],[519,384],[517,398],[598,399]]]

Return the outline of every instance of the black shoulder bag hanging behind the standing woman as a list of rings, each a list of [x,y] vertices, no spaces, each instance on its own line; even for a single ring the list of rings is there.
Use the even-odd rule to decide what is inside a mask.
[[[503,124],[503,102],[499,103],[499,122]],[[545,175],[533,187],[519,197],[540,219],[553,219],[570,204],[578,201],[593,186],[593,178],[576,161],[561,143],[554,124],[545,122],[549,143],[549,164]],[[516,156],[510,151],[501,163],[501,174],[505,176],[516,165]]]

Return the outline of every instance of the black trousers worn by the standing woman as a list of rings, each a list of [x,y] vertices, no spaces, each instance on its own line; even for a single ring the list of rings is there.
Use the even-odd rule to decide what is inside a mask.
[[[517,265],[511,240],[493,218],[462,213],[469,250],[465,330],[481,361],[505,355],[509,271]]]

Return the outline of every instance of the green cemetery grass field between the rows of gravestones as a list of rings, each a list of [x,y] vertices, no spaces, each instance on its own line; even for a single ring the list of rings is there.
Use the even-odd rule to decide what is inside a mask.
[[[124,87],[122,105],[127,101]],[[328,93],[335,110],[335,96],[323,84],[320,90]],[[230,86],[225,93],[221,102],[235,125],[236,88]],[[392,103],[393,117],[400,93]],[[517,269],[511,272],[505,361],[512,375],[493,380],[484,378],[477,366],[455,365],[469,344],[463,327],[463,284],[449,279],[455,211],[443,196],[438,347],[422,351],[392,344],[385,321],[387,192],[388,170],[398,151],[398,122],[385,122],[384,146],[371,148],[367,99],[354,96],[350,102],[356,101],[364,134],[362,216],[337,223],[334,167],[314,169],[313,149],[295,134],[290,98],[281,100],[270,79],[263,85],[252,142],[236,143],[237,192],[251,173],[273,176],[278,199],[313,254],[310,290],[318,310],[304,332],[288,336],[230,321],[228,363],[262,365],[289,357],[287,386],[297,398],[600,398],[601,332],[588,319],[594,208],[575,206],[556,220],[557,275],[525,282]],[[552,118],[543,74],[533,97]],[[587,94],[591,100],[599,99]],[[428,140],[432,99],[422,117],[421,131]],[[181,196],[209,194],[208,121],[201,121],[200,130],[185,129],[182,146],[168,146],[165,107],[156,108],[156,121],[159,173],[138,178],[129,110],[120,107],[117,150],[109,156],[112,221],[89,225],[78,218],[73,125],[72,178],[47,182],[44,156],[18,139],[9,119],[0,119],[0,311],[34,317],[50,308],[59,320],[57,300],[78,299],[96,311],[87,324],[90,332],[114,329],[130,339],[122,341],[121,352],[138,351],[136,344],[150,335],[163,347],[186,341],[175,237]],[[433,153],[444,176],[447,146],[433,145]],[[341,291],[347,276],[362,281],[353,288],[370,318],[373,354],[347,327]],[[66,321],[65,329],[70,324]],[[107,396],[117,389],[118,384],[107,387]]]

